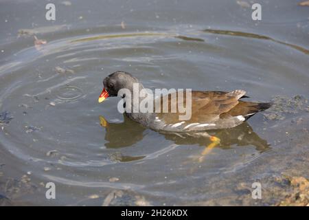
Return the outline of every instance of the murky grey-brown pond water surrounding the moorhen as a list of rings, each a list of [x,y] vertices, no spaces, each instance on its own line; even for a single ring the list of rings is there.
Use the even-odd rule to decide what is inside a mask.
[[[54,22],[41,1],[0,3],[1,204],[271,204],[248,187],[309,177],[309,7],[260,1],[255,22],[236,1],[61,2]],[[33,34],[47,43],[34,47]],[[145,129],[117,112],[117,98],[98,104],[116,70],[152,89],[279,98],[266,116],[211,131],[220,146],[198,162],[207,138]]]

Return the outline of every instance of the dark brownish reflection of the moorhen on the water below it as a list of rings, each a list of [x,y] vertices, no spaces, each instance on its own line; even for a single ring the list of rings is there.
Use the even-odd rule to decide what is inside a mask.
[[[99,118],[101,126],[104,127],[106,131],[106,148],[132,146],[144,137],[146,128],[128,119],[126,115],[124,115],[124,122],[121,123],[107,122],[101,115]],[[179,145],[199,144],[200,146],[207,146],[207,144],[211,142],[211,138],[209,140],[209,137],[218,137],[220,143],[217,143],[216,147],[224,149],[231,148],[231,146],[255,146],[257,151],[263,152],[270,147],[266,140],[263,140],[257,133],[253,132],[253,129],[247,122],[231,129],[207,131],[207,135],[194,135],[192,133],[160,133],[164,135],[166,140],[172,140],[175,144]]]

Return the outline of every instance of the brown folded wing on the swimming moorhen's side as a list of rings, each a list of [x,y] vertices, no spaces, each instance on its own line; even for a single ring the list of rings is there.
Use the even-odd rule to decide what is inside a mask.
[[[238,104],[238,98],[245,94],[242,90],[231,92],[225,91],[192,91],[192,114],[191,119],[185,121],[185,124],[191,123],[209,123],[215,122],[220,118],[221,113],[231,110]],[[161,112],[157,113],[159,120],[166,124],[175,124],[179,122],[179,115],[181,113],[177,107],[176,113],[171,113],[171,106],[177,106],[177,100],[168,95],[168,113],[162,112],[163,97],[161,97]],[[186,103],[186,94],[183,93],[183,103]]]

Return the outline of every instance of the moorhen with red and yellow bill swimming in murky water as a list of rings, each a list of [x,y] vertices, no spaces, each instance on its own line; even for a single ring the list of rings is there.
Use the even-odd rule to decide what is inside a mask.
[[[133,94],[133,85],[137,83],[139,89],[144,89],[144,86],[139,83],[139,80],[127,72],[117,71],[110,74],[103,80],[104,89],[100,95],[98,102],[103,102],[107,97],[121,96],[118,94],[120,89],[128,89]],[[242,122],[248,120],[251,116],[255,115],[259,111],[264,111],[271,107],[271,102],[246,102],[241,100],[242,98],[248,98],[244,96],[246,91],[242,89],[236,89],[234,91],[192,91],[191,102],[191,117],[189,120],[180,120],[179,115],[183,112],[163,113],[162,111],[153,111],[153,113],[141,113],[141,112],[125,112],[128,118],[143,124],[144,126],[153,129],[155,131],[164,131],[171,133],[191,133],[194,136],[210,137],[210,140],[214,142],[210,148],[214,147],[220,142],[220,139],[214,136],[208,135],[206,130],[214,129],[229,129],[234,126],[242,124]],[[134,94],[133,94],[134,95]],[[166,97],[168,96],[168,97]],[[172,107],[171,94],[160,96],[156,98],[154,102],[161,102],[163,106],[164,97],[168,100],[168,107]],[[186,102],[186,91],[183,92],[183,102]],[[139,100],[144,98],[139,98]],[[124,98],[124,100],[126,100]],[[176,101],[177,102],[177,101]],[[126,104],[124,101],[124,106]],[[155,108],[155,104],[153,104]],[[185,105],[184,105],[185,106]],[[134,108],[134,107],[133,107]],[[163,108],[161,108],[163,109]]]

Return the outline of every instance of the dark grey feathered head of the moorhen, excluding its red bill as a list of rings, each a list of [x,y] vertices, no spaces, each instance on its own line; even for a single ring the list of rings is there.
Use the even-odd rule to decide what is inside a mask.
[[[104,89],[108,96],[117,96],[119,89],[133,89],[133,83],[139,80],[127,72],[117,71],[103,80]]]

